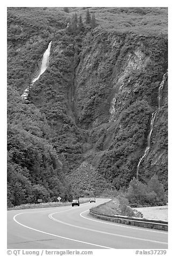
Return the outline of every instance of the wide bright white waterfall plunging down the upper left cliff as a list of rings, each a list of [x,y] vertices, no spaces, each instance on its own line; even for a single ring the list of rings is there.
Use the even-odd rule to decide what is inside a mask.
[[[33,86],[34,82],[36,82],[39,77],[46,71],[48,65],[49,65],[49,55],[50,55],[50,47],[51,47],[51,44],[52,44],[52,41],[49,42],[49,45],[45,51],[45,53],[43,54],[43,57],[42,57],[42,62],[41,62],[41,67],[40,67],[40,72],[39,74],[34,77],[34,79],[32,80],[30,86],[28,86],[24,93],[21,95],[21,97],[27,99],[28,98],[28,93],[29,93],[29,90],[30,88]]]

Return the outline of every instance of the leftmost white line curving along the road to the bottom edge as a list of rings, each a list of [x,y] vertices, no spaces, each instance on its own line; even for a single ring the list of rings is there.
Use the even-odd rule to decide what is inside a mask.
[[[20,214],[23,214],[23,212],[21,212]],[[57,234],[52,234],[52,233],[48,233],[48,232],[45,232],[45,231],[41,231],[41,230],[38,230],[38,229],[33,229],[33,227],[30,227],[30,226],[26,226],[20,222],[18,222],[16,220],[16,217],[20,214],[17,214],[13,217],[13,220],[18,223],[19,225],[21,226],[24,226],[24,227],[27,227],[27,229],[31,229],[31,230],[34,230],[34,231],[37,231],[37,232],[40,232],[40,233],[43,233],[43,234],[49,234],[49,236],[53,236],[53,237],[59,237],[59,238],[62,238],[62,239],[66,239],[66,240],[71,240],[71,241],[76,241],[78,243],[82,243],[82,244],[88,244],[88,245],[93,245],[93,246],[97,246],[97,247],[101,247],[101,248],[106,248],[106,249],[114,249],[114,248],[111,248],[111,247],[107,247],[107,246],[101,246],[101,245],[97,245],[97,244],[91,244],[91,243],[87,243],[87,242],[84,242],[84,241],[80,241],[80,240],[76,240],[76,239],[72,239],[72,238],[68,238],[68,237],[61,237],[61,236],[57,236]]]

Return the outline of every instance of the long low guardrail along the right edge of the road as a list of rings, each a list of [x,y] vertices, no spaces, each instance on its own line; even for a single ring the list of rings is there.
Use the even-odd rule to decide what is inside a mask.
[[[110,221],[115,223],[127,224],[132,226],[141,226],[148,227],[149,229],[158,229],[158,230],[168,230],[168,222],[165,221],[157,221],[154,219],[144,219],[144,218],[135,218],[135,217],[127,217],[121,215],[102,215],[99,212],[90,209],[90,215],[103,219],[104,221]]]

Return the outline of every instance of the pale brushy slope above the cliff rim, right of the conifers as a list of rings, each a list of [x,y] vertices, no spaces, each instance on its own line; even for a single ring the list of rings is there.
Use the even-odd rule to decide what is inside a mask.
[[[107,31],[117,30],[120,32],[133,31],[143,34],[167,34],[167,8],[166,7],[82,7],[69,8],[69,15],[77,12],[85,20],[86,10],[94,13],[100,29]],[[47,10],[53,10],[47,8]],[[63,8],[54,8],[61,13]]]

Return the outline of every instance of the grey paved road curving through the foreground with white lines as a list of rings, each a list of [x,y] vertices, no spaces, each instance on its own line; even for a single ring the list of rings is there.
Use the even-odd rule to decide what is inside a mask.
[[[79,207],[8,211],[8,249],[162,249],[167,232],[111,223],[93,218],[89,209],[108,201]]]

